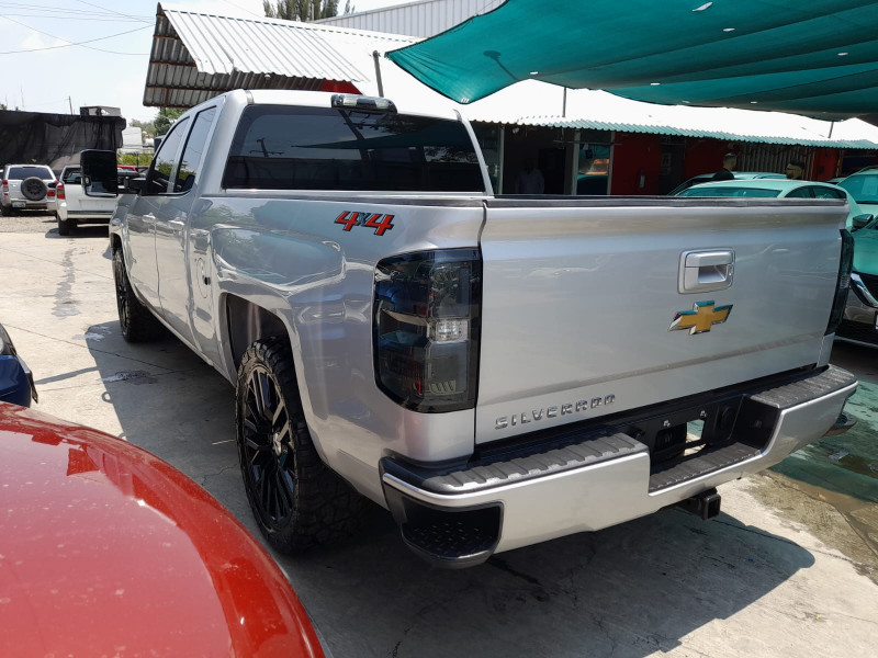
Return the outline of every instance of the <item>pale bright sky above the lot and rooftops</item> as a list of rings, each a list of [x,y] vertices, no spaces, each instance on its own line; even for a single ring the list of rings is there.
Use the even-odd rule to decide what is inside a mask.
[[[0,0],[0,102],[10,110],[75,114],[82,105],[121,107],[149,121],[144,84],[157,0]],[[368,11],[403,0],[352,0]],[[262,0],[177,0],[178,8],[263,16]],[[344,0],[339,2],[344,8]],[[89,43],[83,43],[89,42]],[[82,44],[82,45],[70,45]]]

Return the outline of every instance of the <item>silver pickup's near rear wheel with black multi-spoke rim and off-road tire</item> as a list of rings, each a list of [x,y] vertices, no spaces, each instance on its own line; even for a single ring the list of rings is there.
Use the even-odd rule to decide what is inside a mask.
[[[268,542],[281,553],[297,553],[350,535],[360,524],[363,499],[314,447],[285,338],[249,347],[235,400],[244,487]]]

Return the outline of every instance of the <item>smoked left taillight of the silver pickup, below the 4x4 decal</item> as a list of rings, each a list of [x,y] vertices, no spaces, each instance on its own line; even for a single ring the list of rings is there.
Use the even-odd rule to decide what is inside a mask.
[[[397,256],[375,268],[375,381],[416,411],[475,406],[482,256],[442,249]]]

